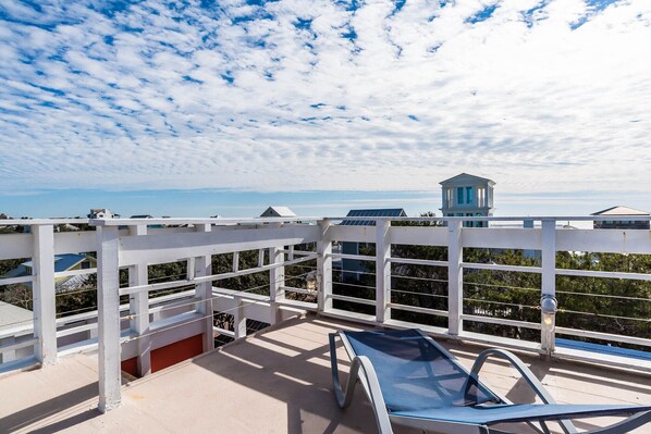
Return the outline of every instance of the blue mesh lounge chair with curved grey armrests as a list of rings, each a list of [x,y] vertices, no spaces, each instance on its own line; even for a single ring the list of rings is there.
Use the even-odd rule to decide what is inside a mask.
[[[353,361],[345,393],[339,380],[336,336]],[[481,384],[478,373],[488,357],[508,360],[544,404],[513,404]],[[330,359],[339,406],[346,408],[351,404],[359,381],[382,434],[392,432],[391,422],[446,434],[506,434],[494,425],[527,423],[549,434],[545,422],[557,421],[566,434],[572,434],[577,430],[569,419],[629,416],[589,432],[619,434],[651,421],[651,406],[555,404],[533,373],[508,351],[482,351],[468,372],[454,356],[418,330],[333,333]]]

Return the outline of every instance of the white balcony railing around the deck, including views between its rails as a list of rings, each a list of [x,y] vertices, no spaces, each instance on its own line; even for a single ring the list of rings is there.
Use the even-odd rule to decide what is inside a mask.
[[[152,354],[174,343],[199,336],[200,350],[207,351],[218,334],[245,336],[247,320],[273,324],[296,312],[314,311],[651,372],[651,360],[644,357],[651,347],[650,315],[644,313],[651,306],[649,269],[558,266],[561,252],[579,258],[586,252],[651,258],[649,230],[562,226],[566,221],[599,219],[359,218],[364,225],[341,224],[355,218],[0,221],[0,226],[30,228],[0,235],[0,261],[30,259],[33,265],[32,275],[0,276],[0,295],[15,286],[27,288],[23,301],[33,311],[29,319],[0,324],[0,368],[54,363],[62,354],[97,348],[105,411],[120,402],[126,361],[146,375],[152,371]],[[466,227],[466,221],[488,222],[490,227]],[[89,223],[95,231],[56,232],[60,224],[79,223]],[[484,255],[468,255],[472,250]],[[526,260],[492,260],[506,251],[517,251],[517,259]],[[56,271],[57,255],[78,252],[97,258],[97,269]],[[156,266],[169,263],[182,272],[152,277]],[[526,277],[483,281],[490,273]],[[73,275],[91,276],[78,293],[90,293],[97,303],[86,303],[85,311],[58,303],[74,294],[58,293],[57,281]],[[590,294],[573,287],[574,278],[647,286],[635,295]],[[490,290],[477,296],[476,287]],[[521,295],[517,300],[511,297],[516,292]],[[622,330],[636,332],[606,333],[573,321],[556,325],[555,309],[545,309],[545,302],[556,297],[558,315],[630,323],[632,328]],[[570,297],[616,300],[637,313],[572,310],[565,302]],[[541,299],[546,300],[542,309]],[[515,332],[504,332],[508,330]],[[572,349],[556,345],[556,335],[628,346],[641,357]]]

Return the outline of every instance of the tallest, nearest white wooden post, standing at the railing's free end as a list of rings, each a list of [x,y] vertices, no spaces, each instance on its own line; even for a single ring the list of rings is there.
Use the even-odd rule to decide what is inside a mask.
[[[105,413],[122,400],[118,227],[97,226],[97,245],[98,409]]]

